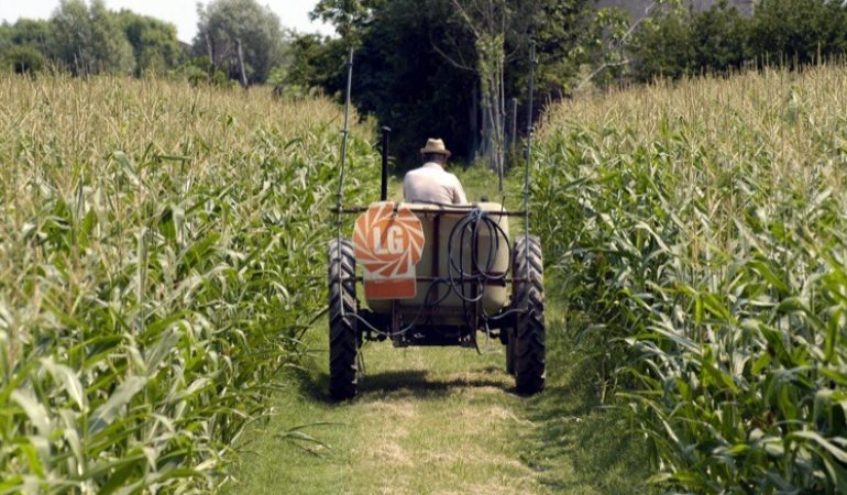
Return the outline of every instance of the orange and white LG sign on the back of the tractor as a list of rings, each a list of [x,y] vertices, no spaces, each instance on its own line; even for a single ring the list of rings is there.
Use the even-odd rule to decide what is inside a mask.
[[[424,252],[424,228],[411,210],[393,202],[371,205],[356,220],[353,246],[356,263],[364,266],[365,297],[415,297],[415,265]]]

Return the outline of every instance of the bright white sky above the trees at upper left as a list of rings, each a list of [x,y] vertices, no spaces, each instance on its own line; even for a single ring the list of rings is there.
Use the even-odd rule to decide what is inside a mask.
[[[0,21],[46,19],[58,3],[59,0],[0,0]],[[334,32],[327,24],[309,21],[309,11],[318,0],[258,0],[258,3],[271,7],[284,28],[304,33]],[[176,24],[179,40],[184,42],[190,42],[197,33],[197,0],[106,0],[106,4],[112,10],[130,9]]]

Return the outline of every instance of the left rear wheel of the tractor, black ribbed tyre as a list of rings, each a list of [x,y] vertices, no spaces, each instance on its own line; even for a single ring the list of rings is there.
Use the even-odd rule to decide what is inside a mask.
[[[353,243],[333,239],[329,242],[329,393],[336,400],[358,392],[355,287]]]

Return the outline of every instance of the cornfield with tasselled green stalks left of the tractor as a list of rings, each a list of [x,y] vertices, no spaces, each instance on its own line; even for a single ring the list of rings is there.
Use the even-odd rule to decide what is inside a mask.
[[[339,109],[63,77],[0,103],[0,493],[216,491],[324,306]]]

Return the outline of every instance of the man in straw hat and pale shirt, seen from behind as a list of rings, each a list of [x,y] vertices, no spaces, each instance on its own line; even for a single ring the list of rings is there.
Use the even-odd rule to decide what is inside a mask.
[[[447,172],[450,151],[442,140],[430,139],[420,148],[424,162],[403,179],[403,196],[407,202],[431,202],[437,205],[464,205],[468,198],[455,175]]]

